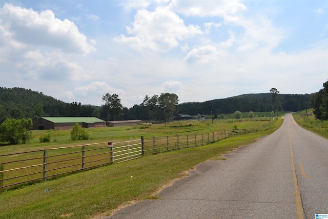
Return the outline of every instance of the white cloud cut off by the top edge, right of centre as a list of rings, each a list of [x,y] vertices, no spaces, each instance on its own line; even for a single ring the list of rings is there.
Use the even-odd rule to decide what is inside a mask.
[[[169,7],[172,11],[187,16],[224,16],[227,14],[235,14],[240,10],[245,10],[246,7],[240,2],[239,0],[173,0]]]

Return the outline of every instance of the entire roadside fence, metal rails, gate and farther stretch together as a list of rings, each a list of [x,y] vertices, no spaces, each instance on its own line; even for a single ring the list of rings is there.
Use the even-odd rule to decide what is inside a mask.
[[[73,172],[134,160],[141,155],[197,147],[254,129],[228,129],[206,134],[144,137],[0,155],[0,191]]]

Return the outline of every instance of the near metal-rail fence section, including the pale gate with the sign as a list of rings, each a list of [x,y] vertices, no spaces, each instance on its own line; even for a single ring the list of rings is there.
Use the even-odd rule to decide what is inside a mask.
[[[4,154],[0,155],[0,189],[129,161],[140,155],[140,140]]]

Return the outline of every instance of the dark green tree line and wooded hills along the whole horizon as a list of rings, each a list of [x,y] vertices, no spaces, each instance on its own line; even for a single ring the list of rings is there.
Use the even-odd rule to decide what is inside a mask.
[[[327,83],[325,83],[325,86]],[[144,97],[140,104],[131,108],[121,105],[117,94],[106,93],[102,99],[102,106],[82,105],[72,102],[64,103],[42,92],[24,88],[0,87],[0,124],[7,118],[39,117],[83,117],[92,116],[105,121],[144,120],[164,121],[172,120],[177,114],[209,115],[229,114],[241,112],[271,112],[271,111],[300,111],[305,108],[316,107],[318,118],[325,118],[327,113],[319,113],[320,99],[326,95],[327,88],[315,94],[280,94],[277,89],[270,93],[243,94],[240,96],[214,99],[206,102],[192,102],[179,104],[178,96],[174,93],[161,93]],[[310,101],[311,96],[316,97]]]

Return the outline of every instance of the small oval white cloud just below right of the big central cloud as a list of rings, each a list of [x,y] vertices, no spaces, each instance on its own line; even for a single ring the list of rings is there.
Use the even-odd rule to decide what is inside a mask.
[[[192,49],[186,56],[185,61],[187,63],[211,63],[218,59],[218,56],[223,53],[217,50],[214,46],[208,45],[199,48]]]

